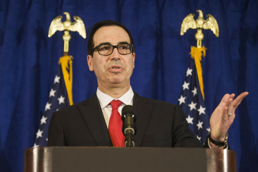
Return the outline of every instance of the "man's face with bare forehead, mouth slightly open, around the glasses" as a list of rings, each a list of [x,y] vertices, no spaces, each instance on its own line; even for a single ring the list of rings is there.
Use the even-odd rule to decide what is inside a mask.
[[[119,26],[104,26],[93,36],[94,47],[100,44],[118,45],[130,43],[130,37]],[[135,67],[135,53],[119,54],[114,48],[110,55],[100,55],[94,51],[93,57],[87,56],[90,71],[97,76],[98,86],[130,86],[130,77]],[[118,68],[118,69],[117,69]]]

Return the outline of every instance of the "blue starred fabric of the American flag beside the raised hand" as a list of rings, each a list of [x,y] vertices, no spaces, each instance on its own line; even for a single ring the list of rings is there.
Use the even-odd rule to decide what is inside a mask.
[[[188,128],[204,144],[211,129],[200,89],[195,60],[192,58],[186,72],[178,105],[182,108],[189,123]]]

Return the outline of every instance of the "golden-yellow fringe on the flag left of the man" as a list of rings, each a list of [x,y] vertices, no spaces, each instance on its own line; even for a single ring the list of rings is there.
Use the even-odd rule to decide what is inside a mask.
[[[62,67],[63,79],[64,79],[64,83],[66,83],[70,105],[74,104],[73,91],[72,91],[72,87],[73,87],[72,59],[73,59],[73,56],[65,55],[65,56],[62,56],[58,61],[58,64],[61,65]]]

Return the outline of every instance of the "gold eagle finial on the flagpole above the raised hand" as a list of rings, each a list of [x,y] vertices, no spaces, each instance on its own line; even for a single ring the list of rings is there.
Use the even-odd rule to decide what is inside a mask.
[[[213,33],[219,37],[219,26],[216,19],[208,14],[207,20],[204,20],[204,15],[201,10],[197,10],[199,13],[199,17],[197,20],[193,19],[195,17],[194,14],[187,15],[181,24],[181,32],[180,34],[183,35],[188,29],[197,29],[195,38],[197,40],[197,47],[202,47],[202,40],[204,39],[203,29],[211,29]]]

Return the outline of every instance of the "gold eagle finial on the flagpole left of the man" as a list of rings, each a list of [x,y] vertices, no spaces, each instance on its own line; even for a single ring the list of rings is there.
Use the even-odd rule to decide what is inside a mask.
[[[84,39],[86,38],[86,30],[82,19],[78,16],[74,16],[74,22],[71,22],[71,17],[68,12],[64,12],[66,15],[66,21],[62,22],[62,16],[57,16],[54,18],[50,24],[48,37],[51,37],[57,30],[63,31],[64,34],[62,39],[64,41],[63,45],[63,55],[68,55],[69,51],[69,41],[71,39],[71,35],[69,31],[78,32]]]

